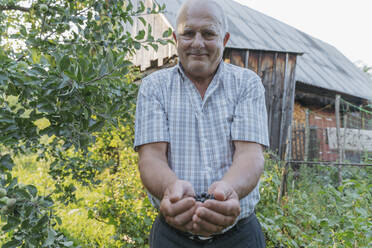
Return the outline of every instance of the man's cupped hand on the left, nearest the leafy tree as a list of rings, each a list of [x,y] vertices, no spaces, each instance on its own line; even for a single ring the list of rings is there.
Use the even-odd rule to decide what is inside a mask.
[[[177,180],[169,185],[160,202],[160,212],[166,222],[181,231],[192,230],[192,216],[196,205],[191,183]]]

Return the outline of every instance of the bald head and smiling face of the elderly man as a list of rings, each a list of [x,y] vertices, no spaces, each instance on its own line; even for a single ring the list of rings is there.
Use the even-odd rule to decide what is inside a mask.
[[[213,4],[190,2],[179,15],[174,36],[186,75],[192,80],[202,81],[213,77],[216,72],[229,35],[222,34],[219,11]]]

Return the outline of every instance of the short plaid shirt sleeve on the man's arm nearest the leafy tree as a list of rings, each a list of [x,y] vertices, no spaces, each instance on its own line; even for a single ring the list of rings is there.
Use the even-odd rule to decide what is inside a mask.
[[[138,146],[154,143],[169,142],[167,115],[162,102],[160,89],[154,87],[151,81],[142,81],[136,106],[136,121],[134,149]]]

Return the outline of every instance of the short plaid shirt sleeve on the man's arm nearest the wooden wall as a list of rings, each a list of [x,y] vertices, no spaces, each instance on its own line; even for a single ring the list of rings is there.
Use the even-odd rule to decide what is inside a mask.
[[[269,146],[265,88],[258,76],[251,78],[241,90],[235,106],[231,138]]]

